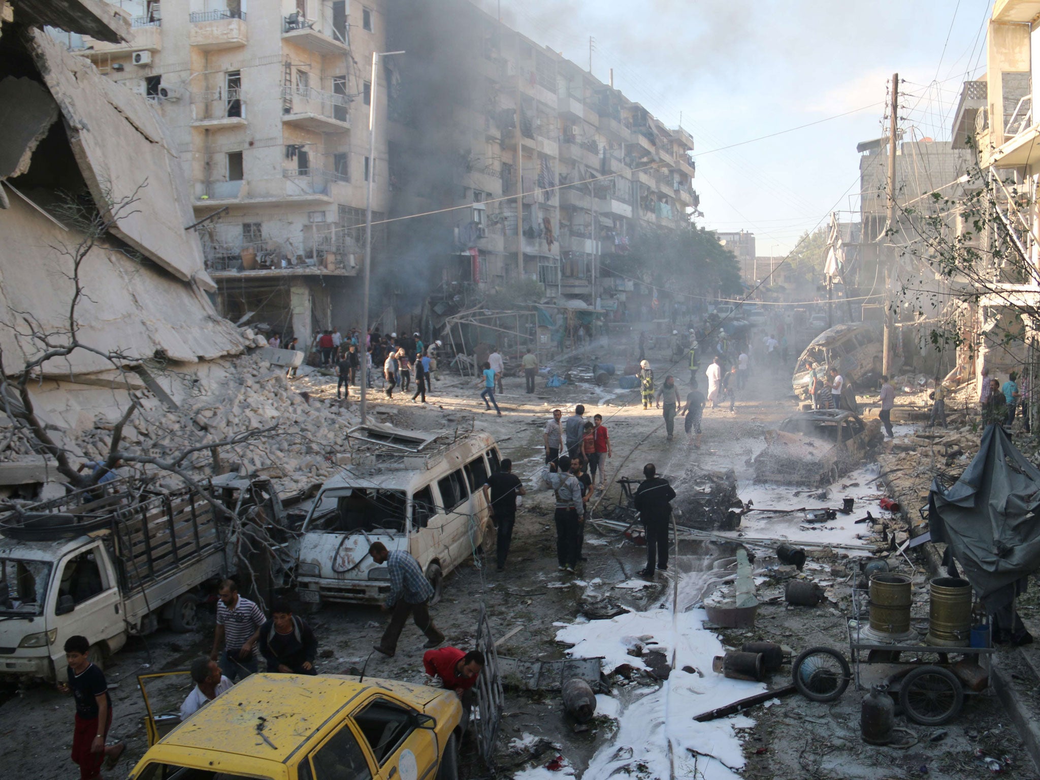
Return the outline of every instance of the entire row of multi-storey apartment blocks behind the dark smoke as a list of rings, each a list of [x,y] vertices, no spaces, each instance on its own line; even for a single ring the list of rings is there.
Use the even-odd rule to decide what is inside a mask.
[[[699,205],[688,133],[468,0],[112,5],[125,42],[54,34],[170,127],[233,320],[255,312],[303,343],[360,327],[369,172],[386,330],[523,279],[623,311],[632,282],[601,264]],[[373,162],[370,62],[390,49],[405,54],[381,58]]]

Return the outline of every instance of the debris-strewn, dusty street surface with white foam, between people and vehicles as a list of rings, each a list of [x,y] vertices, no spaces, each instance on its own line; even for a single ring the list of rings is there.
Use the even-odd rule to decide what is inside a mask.
[[[798,355],[797,349],[792,353]],[[671,365],[664,349],[648,357],[658,380],[664,379]],[[635,362],[634,358],[631,345],[596,345],[561,361],[557,367],[561,372],[570,365],[583,365],[588,369],[596,359],[620,367]],[[702,363],[706,366],[706,361]],[[680,363],[672,372],[685,395],[688,370]],[[587,417],[597,412],[602,414],[614,445],[614,458],[607,462],[612,487],[594,517],[602,516],[618,500],[614,479],[639,478],[648,462],[655,463],[659,472],[676,478],[678,505],[683,505],[682,476],[691,465],[719,471],[732,469],[738,494],[758,495],[755,492],[758,489],[750,482],[751,459],[764,446],[763,433],[796,408],[789,395],[789,371],[778,375],[768,371],[757,373],[738,396],[735,413],[723,409],[705,411],[702,448],[697,450],[681,432],[681,418],[677,420],[675,441],[667,442],[660,411],[644,411],[638,393],[619,391],[616,381],[605,389],[591,383],[546,389],[543,376],[537,392],[527,395],[523,392],[522,378],[508,378],[505,392],[497,396],[503,416],[497,417],[494,411],[484,411],[475,380],[443,371],[441,375],[443,381],[434,384],[426,407],[413,405],[411,393],[395,395],[387,401],[376,389],[375,418],[405,428],[465,430],[473,425],[488,431],[499,442],[503,456],[513,459],[514,471],[528,486],[530,475],[543,462],[542,428],[553,408],[563,409],[566,416],[580,402],[586,406]],[[702,375],[699,381],[703,391],[706,382]],[[334,380],[312,375],[296,382],[311,394],[312,405],[328,405],[331,409],[335,404]],[[357,389],[352,390],[356,393]],[[869,528],[844,527],[846,522],[851,524],[862,516],[859,509],[867,509],[868,496],[880,491],[865,485],[860,489],[856,513],[832,523],[830,530],[803,529],[797,522],[790,523],[789,518],[769,519],[759,514],[745,518],[742,530],[731,536],[736,541],[742,532],[755,538],[791,539],[830,534],[835,540],[851,539],[857,544],[873,545],[878,540],[855,539],[859,532],[868,537]],[[841,491],[840,485],[836,490]],[[755,503],[764,505],[758,499]],[[832,497],[831,503],[839,504],[839,497]],[[565,574],[555,565],[551,494],[532,494],[528,490],[518,515],[506,570],[495,572],[491,557],[490,566],[473,562],[460,567],[445,580],[444,598],[432,610],[435,622],[446,634],[448,644],[465,649],[473,640],[483,603],[495,634],[511,634],[498,648],[501,655],[555,659],[564,657],[569,645],[574,644],[575,654],[607,655],[606,672],[614,670],[614,660],[626,658],[632,669],[625,675],[608,675],[605,695],[598,697],[600,714],[588,727],[578,726],[564,713],[558,693],[506,691],[498,744],[501,776],[558,777],[560,772],[546,770],[545,764],[562,756],[554,768],[567,775],[595,780],[615,774],[648,780],[669,776],[904,778],[925,776],[921,768],[927,770],[928,777],[983,777],[989,771],[974,756],[976,749],[987,755],[1011,756],[1012,762],[1006,770],[1010,777],[1035,776],[1013,728],[1002,720],[995,697],[972,697],[962,717],[941,729],[911,725],[918,744],[904,751],[869,747],[859,739],[861,694],[852,687],[834,704],[815,704],[796,695],[746,716],[695,726],[692,719],[698,712],[763,687],[760,683],[723,680],[711,672],[710,655],[721,652],[724,646],[765,639],[782,642],[797,653],[812,645],[841,648],[844,643],[848,653],[844,615],[849,609],[849,586],[839,580],[852,566],[848,560],[850,552],[834,547],[826,553],[810,555],[820,568],[807,569],[807,574],[821,581],[829,580],[826,587],[833,601],[808,608],[788,607],[782,598],[776,598],[782,593],[785,579],[798,575],[778,569],[776,560],[764,554],[763,548],[753,549],[759,554],[755,568],[760,582],[758,595],[763,602],[756,628],[744,632],[705,631],[699,620],[702,613],[696,607],[717,587],[725,588],[724,580],[732,574],[727,568],[733,555],[732,543],[681,541],[678,556],[673,555],[672,572],[658,574],[652,584],[643,584],[634,581],[634,575],[645,564],[645,549],[624,541],[615,530],[600,535],[590,528],[583,550],[588,561],[576,575]],[[842,571],[844,575],[840,575]],[[915,575],[924,581],[919,564]],[[612,621],[589,621],[581,615],[583,599],[602,597],[632,612]],[[679,608],[673,609],[673,603]],[[125,776],[147,748],[141,720],[145,707],[135,675],[183,669],[200,655],[208,654],[212,616],[210,604],[199,631],[175,634],[162,630],[146,639],[131,640],[109,659],[106,674],[113,685],[114,709],[111,736],[125,739],[128,751],[108,776]],[[321,649],[319,672],[360,669],[368,658],[367,675],[413,682],[424,680],[421,665],[424,638],[414,625],[406,627],[394,658],[379,654],[369,658],[386,622],[378,608],[330,604],[308,620]],[[656,627],[648,629],[647,625]],[[557,633],[564,642],[557,641]],[[657,639],[653,639],[655,635]],[[676,648],[680,658],[696,659],[688,665],[694,671],[682,671],[684,662],[680,660],[668,681],[655,679],[662,675],[646,671],[653,666],[646,659],[654,644],[659,648]],[[785,666],[771,685],[788,681],[789,666]],[[182,697],[187,690],[175,693]],[[75,777],[77,769],[69,760],[71,699],[42,685],[7,688],[2,696],[0,745],[5,775],[41,779]],[[711,703],[706,706],[708,702]],[[161,708],[174,709],[179,703],[179,700],[163,702]],[[896,721],[898,725],[907,725],[902,718]],[[930,743],[929,737],[940,730],[946,732],[942,740]],[[672,746],[671,753],[667,745]],[[464,776],[487,777],[487,769],[475,758],[473,750],[472,744],[464,745]]]

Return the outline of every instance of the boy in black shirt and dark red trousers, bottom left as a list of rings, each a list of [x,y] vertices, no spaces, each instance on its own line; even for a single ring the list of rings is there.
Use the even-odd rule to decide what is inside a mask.
[[[72,760],[79,764],[80,780],[101,777],[101,764],[108,759],[111,769],[123,755],[126,745],[105,746],[112,725],[112,699],[108,695],[105,674],[90,662],[90,643],[86,636],[70,636],[64,643],[68,684],[58,683],[58,691],[72,692],[76,699],[76,721],[72,735]],[[12,773],[11,776],[14,776]]]

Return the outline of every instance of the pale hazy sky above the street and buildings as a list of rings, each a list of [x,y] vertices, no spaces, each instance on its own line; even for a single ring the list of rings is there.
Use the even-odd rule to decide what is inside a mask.
[[[990,4],[501,0],[508,23],[586,68],[594,36],[593,74],[605,82],[614,68],[615,86],[669,126],[681,111],[699,155],[702,224],[755,233],[760,256],[786,253],[832,208],[857,208],[856,144],[881,134],[893,72],[908,82],[905,132],[948,139],[965,73],[984,71]],[[496,0],[484,6],[494,14]]]

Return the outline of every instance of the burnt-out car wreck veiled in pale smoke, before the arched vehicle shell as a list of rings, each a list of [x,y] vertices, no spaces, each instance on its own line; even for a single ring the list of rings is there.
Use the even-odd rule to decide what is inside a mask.
[[[824,487],[856,468],[881,440],[881,420],[843,409],[799,412],[765,434],[755,482]]]

